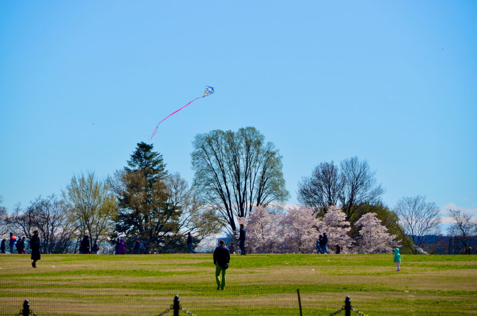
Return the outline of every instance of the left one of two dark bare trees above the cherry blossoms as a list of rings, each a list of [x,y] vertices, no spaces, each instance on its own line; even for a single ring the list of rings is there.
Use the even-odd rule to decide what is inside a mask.
[[[323,216],[330,206],[338,205],[344,185],[340,168],[333,161],[320,163],[310,177],[303,177],[298,183],[298,202]]]

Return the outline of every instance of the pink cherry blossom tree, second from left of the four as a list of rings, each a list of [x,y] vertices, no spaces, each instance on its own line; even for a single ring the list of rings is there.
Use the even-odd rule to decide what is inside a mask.
[[[286,253],[313,253],[319,225],[312,209],[304,206],[288,209],[279,221],[278,233],[282,238],[279,249]]]

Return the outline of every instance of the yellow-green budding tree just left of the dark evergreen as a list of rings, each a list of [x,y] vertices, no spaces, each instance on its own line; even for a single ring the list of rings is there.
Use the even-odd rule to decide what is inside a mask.
[[[94,240],[105,240],[114,227],[116,200],[106,183],[96,179],[94,173],[73,176],[62,197],[77,223],[78,239],[89,235],[90,248]]]

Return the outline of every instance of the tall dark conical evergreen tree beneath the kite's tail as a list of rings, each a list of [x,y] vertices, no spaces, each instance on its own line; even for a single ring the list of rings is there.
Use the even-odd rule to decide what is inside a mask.
[[[119,204],[118,235],[142,239],[149,252],[164,252],[182,238],[178,224],[182,206],[169,203],[166,164],[152,149],[152,144],[138,143],[129,168],[116,171],[109,184]]]

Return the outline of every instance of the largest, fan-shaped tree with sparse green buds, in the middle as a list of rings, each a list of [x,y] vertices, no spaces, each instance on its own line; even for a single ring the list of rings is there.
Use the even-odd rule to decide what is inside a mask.
[[[236,219],[253,206],[282,203],[289,196],[282,156],[256,128],[197,134],[193,145],[194,188],[226,229],[234,232]]]

